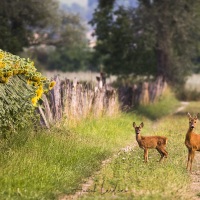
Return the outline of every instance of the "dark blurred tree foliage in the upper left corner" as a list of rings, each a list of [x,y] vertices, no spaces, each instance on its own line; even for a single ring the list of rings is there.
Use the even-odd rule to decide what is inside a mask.
[[[34,34],[46,39],[49,29],[59,21],[58,2],[1,0],[0,20],[0,48],[16,54],[35,43]]]

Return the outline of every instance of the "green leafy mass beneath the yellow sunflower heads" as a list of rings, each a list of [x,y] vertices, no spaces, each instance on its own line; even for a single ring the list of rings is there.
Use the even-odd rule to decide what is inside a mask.
[[[34,90],[19,75],[7,84],[0,84],[0,139],[8,138],[10,133],[36,122],[35,109],[31,103]],[[23,91],[23,92],[22,92]]]

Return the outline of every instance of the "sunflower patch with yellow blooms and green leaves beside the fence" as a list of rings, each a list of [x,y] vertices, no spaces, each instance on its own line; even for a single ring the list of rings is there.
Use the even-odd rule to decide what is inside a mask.
[[[0,50],[1,135],[34,121],[33,105],[54,85],[37,72],[31,60]]]

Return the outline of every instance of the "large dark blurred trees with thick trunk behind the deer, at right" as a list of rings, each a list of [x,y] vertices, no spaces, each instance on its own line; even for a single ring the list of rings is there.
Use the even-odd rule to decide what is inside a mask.
[[[102,6],[100,1],[91,24],[104,70],[162,75],[168,82],[182,84],[197,50],[198,5],[186,0],[140,0],[137,8],[127,9],[114,3]]]

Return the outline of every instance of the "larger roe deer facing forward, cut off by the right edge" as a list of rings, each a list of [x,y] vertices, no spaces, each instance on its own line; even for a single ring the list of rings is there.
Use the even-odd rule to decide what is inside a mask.
[[[185,137],[185,145],[188,148],[188,161],[187,161],[187,170],[190,168],[192,171],[192,162],[194,159],[195,151],[200,151],[200,135],[194,132],[198,121],[199,113],[192,117],[190,113],[187,114],[189,118],[189,129]]]

